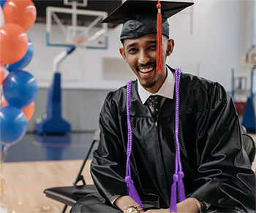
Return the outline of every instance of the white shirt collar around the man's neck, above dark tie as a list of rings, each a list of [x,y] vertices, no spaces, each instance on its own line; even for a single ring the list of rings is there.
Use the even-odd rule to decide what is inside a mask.
[[[140,81],[138,80],[138,93],[140,96],[140,100],[143,104],[147,101],[149,96],[163,96],[165,98],[173,99],[173,90],[174,90],[174,77],[173,72],[170,71],[170,69],[167,68],[167,77],[165,79],[165,82],[162,84],[161,88],[157,91],[157,93],[150,93],[148,90],[143,88],[142,85],[140,85]]]

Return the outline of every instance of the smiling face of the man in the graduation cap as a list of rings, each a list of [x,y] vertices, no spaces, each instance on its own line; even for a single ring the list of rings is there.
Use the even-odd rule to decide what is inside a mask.
[[[173,51],[173,40],[163,36],[163,58]],[[161,74],[157,74],[157,35],[147,34],[138,39],[125,39],[120,53],[132,71],[138,77],[140,84],[151,93],[156,93],[165,81],[166,69],[163,66]]]

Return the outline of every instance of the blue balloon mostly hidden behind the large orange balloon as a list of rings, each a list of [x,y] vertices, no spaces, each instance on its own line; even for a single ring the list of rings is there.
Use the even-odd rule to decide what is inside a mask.
[[[16,63],[12,63],[9,66],[7,66],[7,69],[9,71],[13,71],[15,69],[23,69],[32,60],[33,53],[34,53],[34,47],[33,47],[33,44],[31,43],[31,41],[29,40],[29,47],[28,47],[28,50],[26,51],[26,54],[24,55],[24,57],[21,58],[20,61],[18,61]]]

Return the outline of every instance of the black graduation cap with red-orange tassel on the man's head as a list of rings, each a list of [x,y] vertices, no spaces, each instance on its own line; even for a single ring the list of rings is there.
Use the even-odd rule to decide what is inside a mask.
[[[136,39],[146,34],[157,34],[157,72],[162,72],[162,35],[169,37],[167,18],[175,15],[192,2],[127,0],[102,23],[123,23],[120,39]]]

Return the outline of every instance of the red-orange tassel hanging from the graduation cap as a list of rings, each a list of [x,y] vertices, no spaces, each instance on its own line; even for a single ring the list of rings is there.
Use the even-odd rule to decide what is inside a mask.
[[[161,13],[161,3],[157,2],[157,73],[162,73],[163,68],[163,58],[162,58],[162,13]]]

